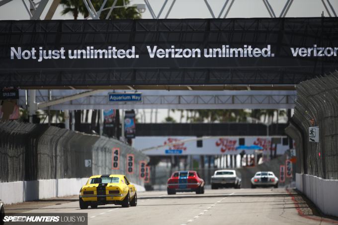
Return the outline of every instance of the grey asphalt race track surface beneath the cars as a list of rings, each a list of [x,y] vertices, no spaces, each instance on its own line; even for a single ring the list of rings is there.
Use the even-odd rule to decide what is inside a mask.
[[[205,190],[200,195],[148,191],[137,195],[137,207],[105,205],[81,210],[78,196],[73,196],[8,205],[5,212],[87,213],[88,225],[338,224],[337,218],[321,216],[311,202],[294,189],[218,189]],[[45,206],[48,201],[49,206]]]

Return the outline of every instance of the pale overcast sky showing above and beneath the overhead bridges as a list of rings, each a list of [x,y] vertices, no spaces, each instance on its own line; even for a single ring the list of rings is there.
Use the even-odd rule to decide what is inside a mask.
[[[173,0],[168,0],[161,16],[159,18],[165,18],[169,7]],[[324,0],[327,2],[327,0]],[[336,14],[338,13],[338,0],[329,0],[332,4]],[[0,0],[1,2],[1,0]],[[29,5],[29,1],[25,0],[26,4]],[[39,2],[35,0],[35,2]],[[149,0],[151,7],[153,8],[156,15],[159,14],[165,0]],[[209,3],[215,17],[218,17],[220,11],[226,2],[226,0],[207,0]],[[228,6],[230,5],[231,0],[229,1]],[[268,0],[271,4],[271,7],[278,17],[287,2],[287,0]],[[45,10],[41,15],[41,19],[44,19],[46,13],[52,3],[52,0],[49,0]],[[131,0],[131,4],[144,3],[143,0]],[[328,5],[328,3],[327,3]],[[228,9],[228,6],[222,13],[222,18]],[[73,19],[73,15],[61,15],[63,6],[59,5],[57,8],[53,19]],[[330,13],[334,15],[331,9]],[[293,0],[286,17],[320,17],[324,13],[324,16],[328,17],[329,14],[325,9],[325,6],[322,0]],[[264,6],[263,0],[234,0],[234,3],[227,15],[227,18],[253,18],[253,17],[270,17],[267,9]],[[83,16],[80,15],[79,19],[82,19]],[[147,8],[144,13],[142,13],[143,19],[152,19],[151,13]],[[176,0],[168,18],[212,18],[211,13],[208,10],[208,7],[204,0]],[[9,3],[6,3],[0,6],[0,20],[28,20],[29,14],[25,9],[22,0],[12,0]],[[140,115],[144,113],[146,115],[146,122],[155,122],[155,110],[151,113],[150,109],[139,110],[139,121],[141,121]],[[151,120],[150,115],[153,115]],[[158,122],[164,121],[164,118],[168,116],[168,110],[159,109],[158,110]],[[180,120],[180,113],[170,112],[170,116],[173,117],[177,122]],[[283,120],[283,118],[281,118]],[[185,119],[182,120],[185,122]],[[282,121],[281,121],[282,122]]]

